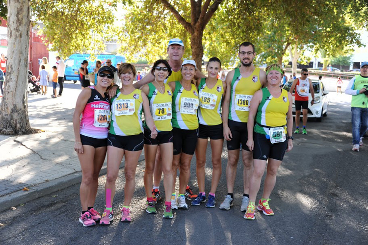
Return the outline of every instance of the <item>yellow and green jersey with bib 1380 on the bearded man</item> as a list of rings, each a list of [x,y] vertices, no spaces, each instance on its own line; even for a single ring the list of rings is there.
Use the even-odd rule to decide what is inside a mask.
[[[249,103],[254,93],[262,88],[260,82],[261,69],[256,67],[248,77],[242,77],[239,68],[235,69],[230,89],[229,119],[247,123]]]

